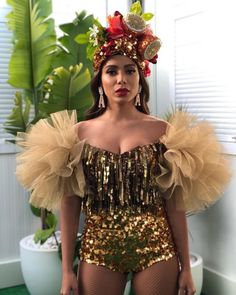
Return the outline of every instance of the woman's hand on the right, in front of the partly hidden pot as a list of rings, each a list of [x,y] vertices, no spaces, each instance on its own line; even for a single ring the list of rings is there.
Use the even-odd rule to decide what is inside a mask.
[[[193,283],[191,270],[182,270],[179,275],[179,293],[178,295],[193,295],[196,288]]]

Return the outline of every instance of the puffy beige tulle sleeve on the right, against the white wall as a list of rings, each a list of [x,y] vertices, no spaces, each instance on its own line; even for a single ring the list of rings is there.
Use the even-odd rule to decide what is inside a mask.
[[[204,210],[217,201],[231,172],[212,126],[186,112],[176,112],[165,135],[157,183],[166,198],[187,214]]]

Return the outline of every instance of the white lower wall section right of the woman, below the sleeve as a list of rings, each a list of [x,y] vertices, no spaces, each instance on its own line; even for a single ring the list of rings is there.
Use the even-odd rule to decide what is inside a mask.
[[[236,294],[236,156],[229,158],[233,178],[224,196],[212,208],[189,218],[191,249],[204,260],[206,294]]]

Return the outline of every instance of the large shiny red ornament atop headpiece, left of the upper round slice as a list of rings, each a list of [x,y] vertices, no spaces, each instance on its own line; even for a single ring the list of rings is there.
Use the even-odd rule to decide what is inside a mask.
[[[108,36],[111,39],[117,39],[123,37],[125,32],[123,28],[122,22],[122,14],[119,11],[114,13],[114,16],[108,16],[107,20],[109,23],[109,27],[107,28]]]

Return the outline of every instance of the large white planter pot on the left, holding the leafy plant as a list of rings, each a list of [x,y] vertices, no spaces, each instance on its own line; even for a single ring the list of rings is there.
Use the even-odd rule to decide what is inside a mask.
[[[27,246],[27,236],[20,241],[21,269],[31,295],[58,295],[61,288],[61,260],[57,249]]]

